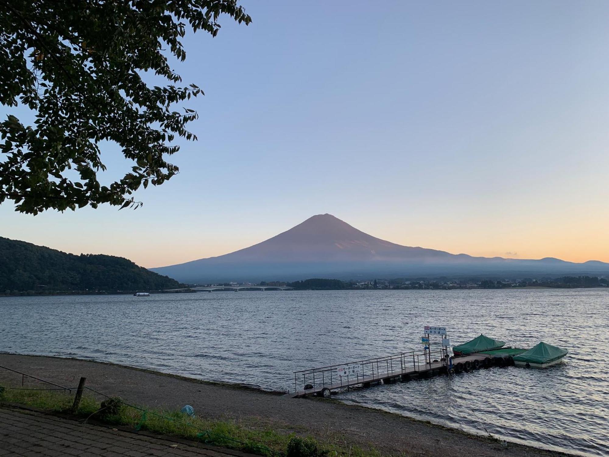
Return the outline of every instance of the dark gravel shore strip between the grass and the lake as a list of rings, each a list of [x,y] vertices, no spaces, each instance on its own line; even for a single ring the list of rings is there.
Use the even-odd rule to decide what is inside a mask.
[[[179,409],[188,404],[199,416],[232,419],[252,427],[270,425],[278,431],[312,434],[347,447],[373,446],[385,455],[565,455],[513,443],[504,447],[491,439],[376,409],[323,399],[290,399],[113,364],[0,353],[0,366],[63,386],[75,386],[84,376],[87,386],[136,405]],[[21,375],[0,369],[1,382],[21,383]]]

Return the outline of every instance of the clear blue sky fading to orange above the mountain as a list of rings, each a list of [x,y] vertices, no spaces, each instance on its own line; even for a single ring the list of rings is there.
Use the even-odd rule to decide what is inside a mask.
[[[158,267],[330,213],[406,246],[609,261],[609,2],[241,4],[250,26],[188,34],[175,65],[205,91],[178,105],[200,116],[180,174],[135,211],[5,202],[0,236]]]

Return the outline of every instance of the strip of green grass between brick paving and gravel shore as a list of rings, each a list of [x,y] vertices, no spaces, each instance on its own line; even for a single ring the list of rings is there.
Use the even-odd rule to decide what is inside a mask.
[[[118,399],[119,400],[119,399]],[[147,409],[118,402],[100,402],[93,395],[83,394],[76,416],[95,419],[109,425],[132,427],[152,433],[204,442],[219,447],[255,453],[269,457],[377,457],[370,448],[346,445],[328,438],[319,442],[311,436],[280,433],[272,427],[251,424],[249,427],[233,421],[211,420],[188,416],[180,411]],[[26,391],[0,387],[0,403],[18,403],[53,413],[70,413],[74,394],[62,391]]]

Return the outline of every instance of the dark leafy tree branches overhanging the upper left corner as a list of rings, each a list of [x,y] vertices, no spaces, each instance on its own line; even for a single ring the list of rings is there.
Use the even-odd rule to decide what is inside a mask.
[[[249,24],[237,0],[0,0],[0,103],[24,105],[32,126],[9,113],[0,124],[0,203],[48,208],[139,205],[140,186],[178,172],[167,156],[197,113],[172,105],[202,94],[180,85],[169,63],[185,60],[188,28],[213,37],[219,16]],[[169,81],[150,87],[150,72]],[[99,143],[117,143],[133,166],[109,186]]]

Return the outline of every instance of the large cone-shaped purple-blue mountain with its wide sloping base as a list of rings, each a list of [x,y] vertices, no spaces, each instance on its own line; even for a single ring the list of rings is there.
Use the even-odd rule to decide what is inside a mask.
[[[152,268],[187,283],[227,280],[339,279],[424,275],[609,274],[600,261],[473,257],[401,246],[357,230],[331,214],[317,214],[286,232],[218,257]]]

